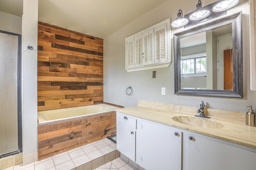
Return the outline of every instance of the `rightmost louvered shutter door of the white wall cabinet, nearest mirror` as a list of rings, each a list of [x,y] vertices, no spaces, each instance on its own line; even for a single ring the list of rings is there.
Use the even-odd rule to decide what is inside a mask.
[[[155,28],[155,61],[154,63],[164,63],[167,58],[167,23],[159,25]]]

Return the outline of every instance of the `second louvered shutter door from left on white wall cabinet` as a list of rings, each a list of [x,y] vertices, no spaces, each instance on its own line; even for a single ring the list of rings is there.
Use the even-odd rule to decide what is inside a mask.
[[[143,66],[143,34],[135,37],[135,66]]]

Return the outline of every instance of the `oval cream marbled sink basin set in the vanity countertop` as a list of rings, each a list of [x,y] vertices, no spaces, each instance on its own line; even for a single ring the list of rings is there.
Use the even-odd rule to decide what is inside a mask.
[[[224,127],[221,123],[218,123],[216,121],[205,119],[201,117],[192,117],[192,116],[175,116],[172,117],[174,121],[177,121],[179,123],[190,125],[194,127],[202,127],[206,129],[220,129]]]

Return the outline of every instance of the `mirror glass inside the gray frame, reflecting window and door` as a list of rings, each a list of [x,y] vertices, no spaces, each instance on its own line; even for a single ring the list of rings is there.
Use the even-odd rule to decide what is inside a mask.
[[[180,38],[181,89],[233,90],[232,23]]]

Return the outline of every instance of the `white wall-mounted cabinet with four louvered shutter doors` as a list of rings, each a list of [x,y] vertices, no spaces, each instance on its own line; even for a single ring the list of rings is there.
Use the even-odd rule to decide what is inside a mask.
[[[170,18],[125,39],[127,72],[171,64]]]

